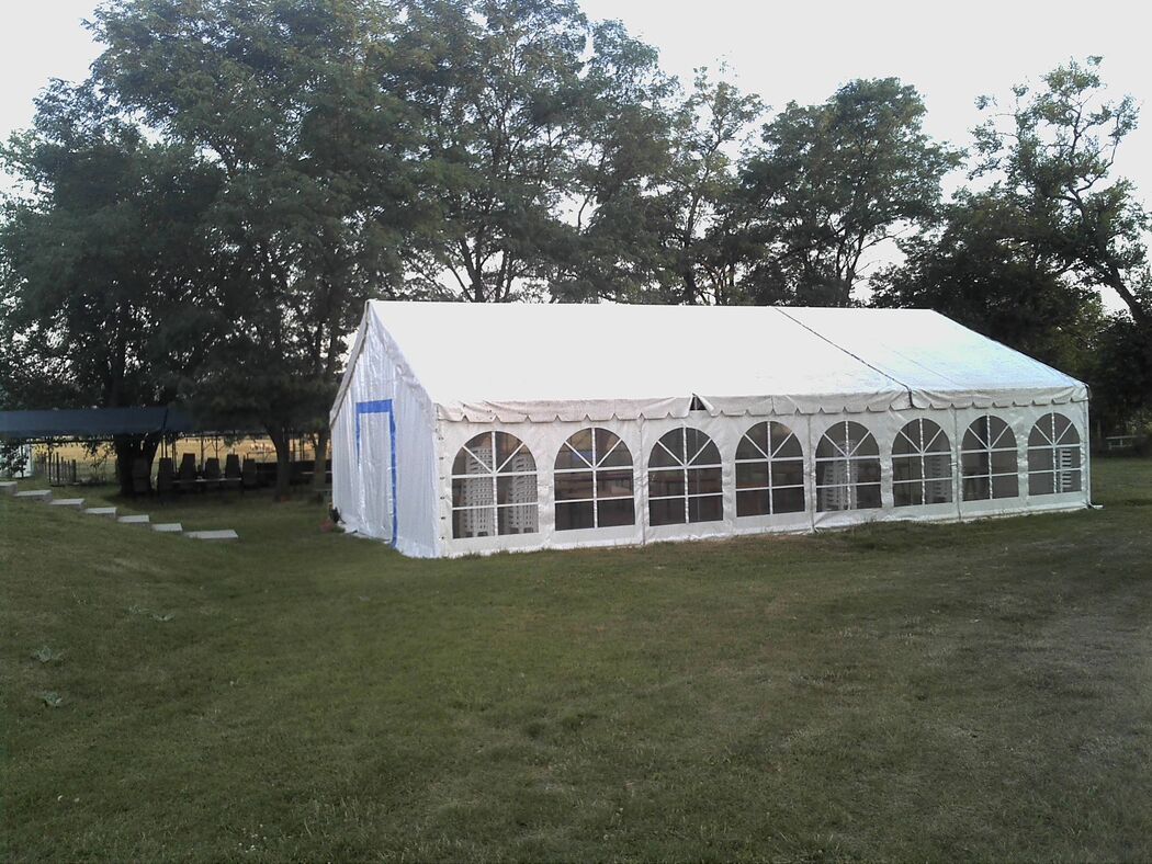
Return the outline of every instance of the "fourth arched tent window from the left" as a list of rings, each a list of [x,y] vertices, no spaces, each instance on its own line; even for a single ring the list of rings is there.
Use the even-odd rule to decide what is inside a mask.
[[[736,515],[804,511],[804,452],[782,423],[757,423],[736,447]]]

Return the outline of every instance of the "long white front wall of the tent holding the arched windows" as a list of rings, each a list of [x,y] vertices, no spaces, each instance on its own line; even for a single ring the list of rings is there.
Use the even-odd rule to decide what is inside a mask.
[[[1051,425],[1053,415],[1066,417],[1073,425],[1078,441],[1070,447],[1032,447],[1030,438],[1037,425]],[[803,506],[790,511],[768,511],[750,515],[745,501],[756,495],[749,492],[752,485],[770,485],[752,479],[755,467],[740,468],[741,450],[745,454],[744,441],[757,424],[775,422],[795,434],[802,450],[802,463],[793,461],[795,470],[802,471],[796,480],[803,490]],[[1002,426],[999,424],[1002,422]],[[871,442],[851,456],[828,448],[826,434],[835,438],[846,424],[863,427]],[[918,456],[909,453],[905,430],[916,430],[927,453]],[[926,424],[926,425],[924,425]],[[1000,437],[980,450],[976,449],[970,430],[996,427]],[[634,517],[627,524],[596,525],[591,528],[561,528],[561,508],[558,507],[558,488],[567,484],[567,498],[579,498],[573,493],[579,484],[597,486],[599,479],[592,470],[579,469],[556,473],[556,460],[566,454],[566,441],[582,430],[597,427],[606,430],[627,447],[628,461],[615,460],[613,470],[620,471],[624,464],[630,468]],[[668,464],[668,458],[659,449],[666,435],[675,435],[676,430],[698,430],[715,445],[715,458],[705,460],[707,467],[694,478],[691,467],[685,467],[683,487],[685,509],[694,494],[711,495],[712,505],[719,505],[720,517],[707,521],[653,524],[652,500],[657,499],[653,478],[666,468],[653,472],[653,454]],[[929,432],[931,430],[931,432]],[[487,479],[457,478],[461,491],[467,495],[468,486],[476,484],[482,494],[472,501],[457,500],[454,507],[453,460],[465,445],[483,437],[502,432],[523,442],[521,464],[510,465],[515,470],[491,479],[492,492],[486,491]],[[915,437],[915,435],[914,435]],[[442,422],[439,444],[441,456],[440,495],[442,498],[441,521],[444,529],[442,553],[461,555],[487,553],[503,550],[571,548],[578,546],[609,546],[643,544],[659,540],[688,540],[727,537],[749,533],[775,533],[813,531],[824,528],[842,528],[879,521],[940,521],[956,522],[988,516],[1002,516],[1044,510],[1079,509],[1090,500],[1089,453],[1087,453],[1087,403],[1041,403],[1009,406],[1003,408],[942,408],[905,410],[793,414],[772,417],[726,417],[706,411],[690,411],[687,416],[665,418],[608,419],[590,422],[553,420],[551,423],[479,423]],[[507,440],[507,439],[505,439]],[[1033,439],[1034,440],[1034,439]],[[1070,438],[1068,440],[1071,440]],[[776,444],[770,445],[772,447]],[[874,449],[867,449],[874,448]],[[1060,452],[1069,456],[1076,467],[1063,473],[1076,478],[1077,488],[1053,493],[1044,488],[1060,475],[1052,464],[1049,454]],[[874,455],[873,455],[874,454]],[[585,454],[586,455],[586,454]],[[689,457],[691,457],[689,453]],[[482,454],[483,456],[483,454]],[[566,456],[567,458],[567,456]],[[788,460],[773,462],[765,456],[756,461],[765,463],[763,477],[776,470],[787,470]],[[465,460],[467,461],[467,460]],[[498,460],[499,462],[499,460]],[[771,467],[770,467],[771,465]],[[939,471],[938,479],[919,475],[925,465]],[[627,469],[626,469],[627,470]],[[707,471],[711,470],[711,475]],[[850,472],[856,482],[843,478],[843,487],[836,488],[835,472]],[[742,471],[742,476],[738,472]],[[858,471],[858,476],[857,476]],[[873,473],[874,471],[874,473]],[[667,473],[662,475],[667,478]],[[941,479],[942,478],[942,479]],[[920,480],[927,479],[927,483]],[[679,478],[673,484],[664,480],[664,492],[679,488]],[[781,485],[788,485],[787,480]],[[694,484],[697,484],[694,487]],[[714,484],[714,485],[710,485]],[[589,487],[591,487],[589,486]],[[859,488],[849,490],[849,486]],[[866,488],[865,488],[866,487]],[[694,491],[695,490],[695,491]],[[851,501],[840,501],[843,492]],[[876,497],[876,506],[861,506],[855,498],[862,492]],[[774,495],[775,493],[770,493]],[[788,494],[797,497],[796,490]],[[897,500],[897,494],[902,500]],[[910,502],[910,497],[919,501]],[[594,494],[593,494],[594,497]],[[457,499],[461,497],[457,495]],[[676,506],[679,506],[676,499]],[[773,500],[775,500],[773,498]],[[525,503],[531,501],[532,503]],[[463,507],[458,505],[464,505]],[[469,507],[468,505],[478,505]],[[598,506],[598,505],[597,505]],[[774,505],[773,505],[774,506]],[[659,509],[660,505],[657,505]],[[842,507],[847,507],[841,509]],[[745,513],[741,513],[744,509]],[[770,508],[771,509],[771,508]],[[525,530],[524,525],[535,530]],[[655,521],[660,521],[657,518]]]

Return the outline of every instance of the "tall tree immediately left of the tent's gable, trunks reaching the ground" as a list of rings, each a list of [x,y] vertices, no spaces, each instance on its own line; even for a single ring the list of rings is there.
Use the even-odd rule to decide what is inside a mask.
[[[402,285],[420,219],[409,113],[380,85],[393,15],[376,0],[115,0],[97,15],[96,76],[221,170],[226,348],[185,384],[215,416],[259,419],[279,494],[294,431],[317,433],[323,484],[344,340],[367,297]]]

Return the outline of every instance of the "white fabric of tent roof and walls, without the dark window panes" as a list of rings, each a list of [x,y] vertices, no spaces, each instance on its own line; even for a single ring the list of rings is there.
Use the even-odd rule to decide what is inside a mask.
[[[1076,488],[1030,497],[1028,442],[1054,409],[1078,430],[1078,461],[1069,469]],[[976,479],[968,475],[978,467],[962,470],[961,463],[976,465],[979,457],[961,449],[965,431],[986,424],[988,412],[999,412],[1011,429],[1015,468],[1003,469],[996,483],[1007,488],[1007,472],[1015,470],[1017,494],[976,500],[969,492]],[[894,470],[905,465],[893,468],[893,447],[917,418],[931,418],[945,432],[950,456],[937,460],[950,465],[952,497],[901,507]],[[880,498],[871,509],[841,510],[817,486],[816,453],[835,424],[857,419],[879,449]],[[803,449],[799,513],[740,513],[734,454],[745,432],[764,420],[786,424]],[[332,424],[333,494],[348,528],[420,556],[812,530],[874,518],[957,520],[1087,501],[1085,385],[925,310],[373,301]],[[662,434],[685,425],[719,448],[722,492],[715,503],[722,498],[722,517],[650,524],[649,460]],[[590,426],[617,435],[631,456],[632,524],[566,530],[556,523],[558,453]],[[475,478],[454,482],[461,470],[454,463],[467,442],[490,431],[523,442],[523,458],[535,464],[533,530],[497,532],[498,516],[515,522],[507,501],[491,501],[492,528],[478,536],[461,522],[461,488]],[[848,462],[836,467],[849,469],[856,470]],[[991,490],[994,472],[985,473]],[[532,476],[521,472],[517,487],[526,488]],[[505,494],[499,490],[493,475],[490,498]],[[516,507],[517,514],[528,511],[523,502]]]

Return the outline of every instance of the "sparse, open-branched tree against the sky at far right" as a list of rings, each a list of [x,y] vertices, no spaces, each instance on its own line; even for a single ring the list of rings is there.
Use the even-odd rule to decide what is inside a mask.
[[[1149,213],[1132,184],[1112,168],[1136,128],[1130,96],[1105,98],[1101,58],[1071,61],[1044,76],[1044,88],[1014,88],[1007,114],[976,129],[975,177],[1020,212],[1016,238],[1043,247],[1086,285],[1112,288],[1146,332],[1152,328]],[[990,97],[977,100],[993,111]]]

